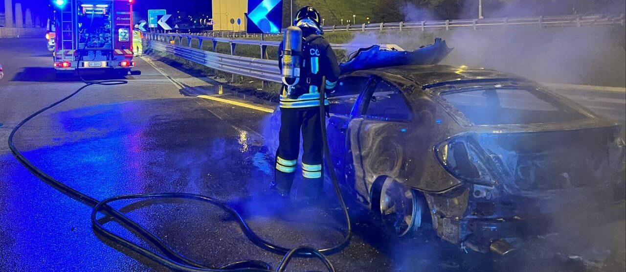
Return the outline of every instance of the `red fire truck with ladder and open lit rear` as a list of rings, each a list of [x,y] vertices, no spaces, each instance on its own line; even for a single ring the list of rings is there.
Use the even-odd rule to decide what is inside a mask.
[[[54,34],[49,37],[54,39],[57,75],[73,75],[78,69],[128,75],[135,67],[134,1],[53,0]]]

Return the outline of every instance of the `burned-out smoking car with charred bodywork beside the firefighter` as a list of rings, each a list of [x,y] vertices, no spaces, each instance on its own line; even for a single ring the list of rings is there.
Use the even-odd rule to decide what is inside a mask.
[[[334,169],[398,236],[433,229],[504,254],[507,238],[611,189],[622,128],[519,76],[404,65],[346,73],[329,93]]]

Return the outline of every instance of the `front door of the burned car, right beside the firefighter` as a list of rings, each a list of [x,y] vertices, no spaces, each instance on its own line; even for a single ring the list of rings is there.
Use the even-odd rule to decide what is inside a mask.
[[[369,76],[345,76],[340,78],[337,87],[327,93],[329,100],[329,115],[327,136],[331,158],[339,181],[345,181],[346,166],[346,133],[354,112],[354,105],[359,95],[365,90],[370,81]]]

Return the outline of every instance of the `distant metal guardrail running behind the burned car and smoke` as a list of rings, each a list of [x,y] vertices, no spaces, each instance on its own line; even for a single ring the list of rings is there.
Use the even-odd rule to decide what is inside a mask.
[[[506,26],[536,25],[540,28],[581,27],[598,25],[625,25],[625,16],[539,16],[535,18],[494,18],[445,21],[419,21],[376,24],[346,24],[326,26],[324,31],[383,31],[383,30],[451,30],[451,29],[483,29]]]

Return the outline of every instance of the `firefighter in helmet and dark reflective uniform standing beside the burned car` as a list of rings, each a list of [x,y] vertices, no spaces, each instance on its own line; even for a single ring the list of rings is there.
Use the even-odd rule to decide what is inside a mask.
[[[321,196],[323,139],[320,127],[319,90],[322,84],[331,91],[339,77],[339,63],[331,45],[322,36],[322,18],[316,9],[306,6],[295,16],[294,25],[302,29],[302,56],[299,83],[293,88],[283,84],[280,95],[279,148],[276,154],[275,179],[271,188],[286,199],[295,178],[302,132],[302,199],[315,201]],[[279,48],[279,66],[283,70],[284,43]],[[287,58],[285,58],[286,60]],[[289,58],[291,59],[291,58]],[[322,78],[326,78],[322,82]],[[326,101],[326,106],[328,102]],[[300,196],[299,196],[300,197]]]

